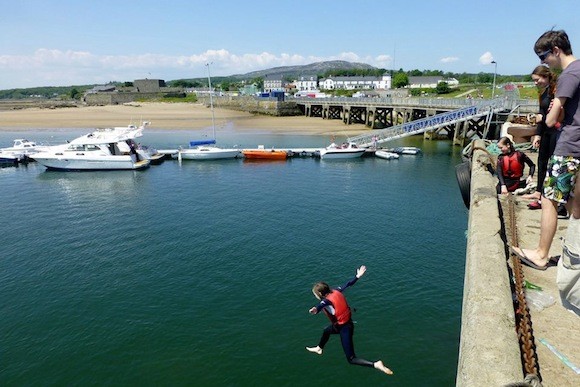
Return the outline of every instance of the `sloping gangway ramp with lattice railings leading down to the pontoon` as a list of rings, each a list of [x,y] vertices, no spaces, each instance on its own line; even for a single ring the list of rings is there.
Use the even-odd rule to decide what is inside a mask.
[[[496,104],[495,101],[491,103],[476,104],[452,110],[450,112],[436,114],[431,117],[421,118],[419,120],[407,122],[401,125],[391,126],[390,128],[373,130],[371,133],[361,134],[359,136],[349,138],[350,142],[354,142],[359,147],[369,147],[373,144],[381,144],[388,141],[393,141],[402,137],[413,136],[427,131],[437,130],[442,127],[450,126],[457,123],[466,122],[469,120],[486,117],[487,126],[491,117],[495,113],[505,110],[503,104]]]

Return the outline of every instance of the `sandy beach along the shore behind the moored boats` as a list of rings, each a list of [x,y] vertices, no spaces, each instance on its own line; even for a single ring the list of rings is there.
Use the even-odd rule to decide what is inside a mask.
[[[369,131],[362,124],[320,117],[271,117],[215,108],[216,127],[233,123],[234,130],[304,135],[355,136]],[[0,111],[0,131],[94,129],[150,121],[154,130],[196,130],[211,127],[211,110],[202,104],[133,103],[57,109],[29,108]]]

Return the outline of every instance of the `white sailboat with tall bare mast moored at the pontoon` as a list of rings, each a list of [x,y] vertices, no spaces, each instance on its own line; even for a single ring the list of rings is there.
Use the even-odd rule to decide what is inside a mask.
[[[209,73],[209,63],[207,66],[207,81],[209,86],[209,104],[211,108],[211,124],[213,130],[213,139],[190,141],[189,148],[179,149],[177,151],[177,159],[182,160],[219,160],[219,159],[234,159],[240,155],[240,150],[235,148],[220,148],[214,146],[216,143],[215,135],[215,114],[213,111],[213,92],[211,89],[211,76]]]

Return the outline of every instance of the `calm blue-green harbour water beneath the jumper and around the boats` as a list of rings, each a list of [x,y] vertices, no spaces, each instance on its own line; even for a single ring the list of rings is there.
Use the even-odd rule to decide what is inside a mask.
[[[62,142],[83,131],[32,131]],[[9,146],[22,133],[0,134]],[[185,145],[190,132],[142,143]],[[255,147],[329,139],[225,134]],[[166,161],[145,171],[0,169],[0,384],[449,386],[455,382],[467,211],[459,149],[286,162]],[[225,144],[224,144],[225,145]],[[342,285],[359,357],[325,325],[310,289]]]

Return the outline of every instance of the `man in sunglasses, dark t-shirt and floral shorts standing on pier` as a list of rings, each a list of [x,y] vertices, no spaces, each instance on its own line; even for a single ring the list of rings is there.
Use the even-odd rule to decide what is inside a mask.
[[[535,249],[511,247],[511,250],[527,265],[538,270],[545,270],[548,266],[550,246],[558,225],[558,203],[565,203],[568,212],[571,213],[563,255],[569,255],[568,252],[580,253],[580,251],[572,251],[574,246],[578,245],[578,238],[580,238],[580,184],[575,184],[580,166],[580,61],[576,60],[572,54],[568,35],[562,30],[545,32],[536,41],[534,51],[542,63],[550,68],[563,70],[558,77],[556,98],[548,111],[546,125],[554,126],[562,119],[563,124],[556,149],[548,162],[548,175],[544,181],[545,199],[542,202],[538,246]],[[558,273],[560,273],[562,261],[564,259],[558,263]],[[580,264],[574,266],[570,263],[571,259],[567,261],[566,268],[571,268],[577,279],[580,275]],[[576,302],[578,303],[576,306],[580,306],[580,300],[576,299]]]

